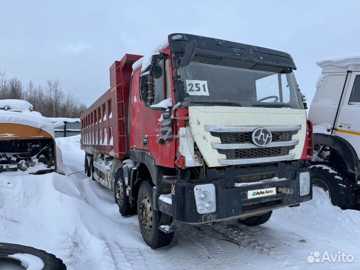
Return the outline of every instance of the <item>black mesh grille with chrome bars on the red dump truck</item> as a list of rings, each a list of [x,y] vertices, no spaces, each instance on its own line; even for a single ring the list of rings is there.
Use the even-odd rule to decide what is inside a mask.
[[[263,126],[272,135],[271,143],[265,147],[251,143],[251,133],[257,127],[259,126],[205,125],[206,131],[220,138],[220,143],[211,143],[218,153],[226,157],[226,159],[219,158],[219,163],[223,165],[252,164],[276,162],[294,157],[295,154],[289,154],[289,151],[298,144],[298,139],[292,139],[292,136],[301,129],[301,125]]]

